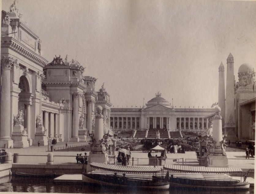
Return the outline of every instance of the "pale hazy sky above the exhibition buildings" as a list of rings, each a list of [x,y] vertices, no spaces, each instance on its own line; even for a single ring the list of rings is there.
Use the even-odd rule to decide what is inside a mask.
[[[9,11],[13,1],[2,0]],[[42,56],[76,59],[103,82],[117,107],[143,105],[160,91],[174,106],[218,101],[218,67],[231,52],[234,74],[256,67],[256,2],[20,0]],[[255,68],[254,68],[255,69]]]

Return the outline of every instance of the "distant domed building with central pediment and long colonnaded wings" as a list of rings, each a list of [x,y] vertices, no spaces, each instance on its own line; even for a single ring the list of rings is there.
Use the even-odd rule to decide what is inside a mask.
[[[204,117],[212,113],[212,108],[175,108],[158,92],[142,108],[111,108],[110,125],[113,129],[200,131],[208,129],[209,120]]]

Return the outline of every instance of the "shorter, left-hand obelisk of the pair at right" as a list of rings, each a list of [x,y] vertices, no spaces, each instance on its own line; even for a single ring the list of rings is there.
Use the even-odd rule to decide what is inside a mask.
[[[225,118],[225,69],[221,62],[219,66],[219,96],[218,96],[218,106],[221,109],[220,116]]]

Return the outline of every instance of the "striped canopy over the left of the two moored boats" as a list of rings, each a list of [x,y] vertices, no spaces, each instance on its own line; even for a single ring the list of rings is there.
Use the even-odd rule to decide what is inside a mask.
[[[113,164],[104,164],[98,162],[92,162],[91,167],[112,171],[112,172],[123,172],[123,173],[157,173],[161,172],[159,167],[148,167],[148,166],[118,166]]]

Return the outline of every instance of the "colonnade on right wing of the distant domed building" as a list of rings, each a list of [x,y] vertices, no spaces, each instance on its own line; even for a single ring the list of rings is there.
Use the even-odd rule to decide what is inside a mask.
[[[197,119],[197,120],[196,120]],[[200,123],[200,119],[201,119],[201,128],[199,126]],[[205,123],[206,121],[206,123]],[[183,127],[181,126],[181,123],[183,122]],[[186,122],[188,123],[188,127],[186,127]],[[190,126],[190,123],[192,124],[192,128]],[[204,126],[204,123],[206,124],[206,126]],[[179,124],[179,125],[178,125]],[[195,127],[195,124],[197,125]],[[207,118],[206,120],[202,117],[177,117],[176,118],[176,127],[177,129],[208,129],[209,128],[209,119]]]

